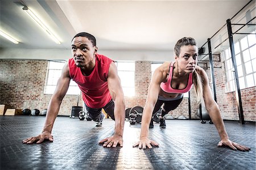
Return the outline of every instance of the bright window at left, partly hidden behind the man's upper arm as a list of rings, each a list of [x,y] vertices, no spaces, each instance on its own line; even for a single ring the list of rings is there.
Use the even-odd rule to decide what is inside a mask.
[[[53,94],[56,89],[57,81],[61,76],[62,69],[65,65],[65,61],[49,61],[48,72],[46,78],[46,86],[44,88],[44,94]],[[67,94],[80,94],[81,90],[77,86],[76,82],[71,80]]]

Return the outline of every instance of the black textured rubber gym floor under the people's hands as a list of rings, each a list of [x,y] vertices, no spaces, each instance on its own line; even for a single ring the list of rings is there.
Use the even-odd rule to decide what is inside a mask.
[[[102,127],[93,121],[57,117],[54,142],[23,144],[22,139],[38,135],[45,117],[0,116],[0,169],[254,169],[255,122],[238,125],[225,121],[229,138],[251,148],[249,152],[217,147],[220,139],[214,125],[199,120],[166,120],[150,129],[150,138],[160,145],[139,150],[140,124],[125,122],[123,147],[98,144],[114,132],[114,121],[104,119]]]

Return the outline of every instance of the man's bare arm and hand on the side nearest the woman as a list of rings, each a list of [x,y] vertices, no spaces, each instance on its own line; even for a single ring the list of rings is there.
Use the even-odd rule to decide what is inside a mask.
[[[106,147],[116,147],[119,143],[123,146],[123,126],[125,124],[125,100],[121,81],[117,74],[117,67],[112,62],[109,67],[108,88],[114,101],[115,133],[110,138],[100,141]]]

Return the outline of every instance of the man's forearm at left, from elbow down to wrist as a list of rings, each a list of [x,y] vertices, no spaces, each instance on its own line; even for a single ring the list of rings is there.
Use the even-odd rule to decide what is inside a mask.
[[[57,98],[52,98],[47,109],[46,122],[44,123],[43,131],[52,131],[53,123],[60,110],[61,101]]]

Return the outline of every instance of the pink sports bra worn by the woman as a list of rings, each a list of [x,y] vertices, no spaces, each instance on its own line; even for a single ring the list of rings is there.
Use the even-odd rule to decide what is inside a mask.
[[[192,74],[193,73],[189,73],[188,84],[184,89],[181,89],[181,90],[180,89],[173,89],[172,86],[171,86],[171,81],[172,81],[172,71],[174,69],[174,63],[175,62],[172,61],[171,64],[170,64],[170,73],[169,73],[169,77],[168,77],[167,82],[161,82],[160,88],[166,93],[186,93],[189,90],[191,90],[191,88],[192,88],[192,85],[193,85]]]

